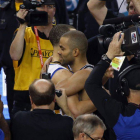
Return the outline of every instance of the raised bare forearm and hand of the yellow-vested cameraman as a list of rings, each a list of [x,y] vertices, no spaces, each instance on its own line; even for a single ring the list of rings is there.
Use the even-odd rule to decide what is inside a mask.
[[[17,13],[17,17],[24,19],[27,15],[26,9],[20,9]],[[20,60],[24,48],[24,35],[27,23],[20,24],[18,32],[10,46],[10,56],[13,60]]]

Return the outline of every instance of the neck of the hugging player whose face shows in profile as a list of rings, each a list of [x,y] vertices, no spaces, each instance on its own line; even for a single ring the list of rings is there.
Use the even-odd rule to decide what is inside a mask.
[[[71,64],[70,67],[72,68],[73,72],[77,72],[87,64],[87,59],[75,59],[74,63]]]

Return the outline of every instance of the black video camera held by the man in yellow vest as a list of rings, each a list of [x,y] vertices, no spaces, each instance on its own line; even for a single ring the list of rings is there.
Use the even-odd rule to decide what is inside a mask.
[[[55,2],[54,0],[23,0],[20,8],[28,9],[25,20],[29,26],[43,26],[48,24],[48,13],[36,10],[37,7],[41,7],[42,5],[55,5]]]

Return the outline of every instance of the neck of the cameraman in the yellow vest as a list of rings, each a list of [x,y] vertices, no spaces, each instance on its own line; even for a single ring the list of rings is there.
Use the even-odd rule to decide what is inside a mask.
[[[51,29],[53,28],[52,24],[49,24],[47,26],[37,26],[37,29],[44,33],[46,35],[46,37],[49,37],[49,33],[51,31]]]

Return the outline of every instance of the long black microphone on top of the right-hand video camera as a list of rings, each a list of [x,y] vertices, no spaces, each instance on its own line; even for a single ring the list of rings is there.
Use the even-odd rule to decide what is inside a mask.
[[[140,15],[130,15],[130,16],[126,16],[126,17],[118,17],[118,18],[111,18],[111,19],[106,19],[103,22],[103,25],[105,24],[120,24],[123,22],[138,22],[140,21],[139,18]]]

